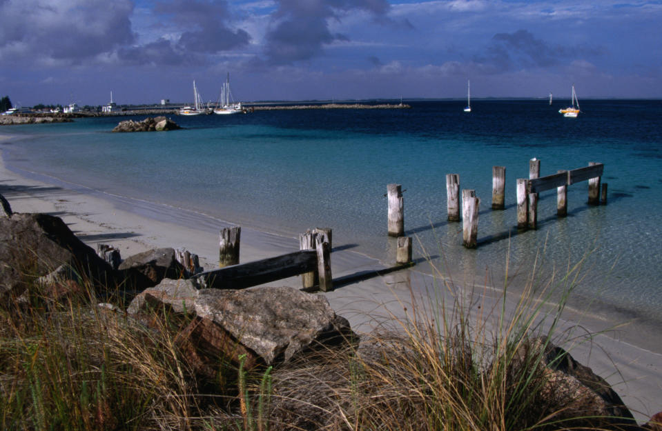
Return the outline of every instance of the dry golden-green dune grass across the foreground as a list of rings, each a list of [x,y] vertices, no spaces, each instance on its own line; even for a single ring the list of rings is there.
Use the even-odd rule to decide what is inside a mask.
[[[574,426],[544,397],[543,347],[578,267],[532,276],[519,302],[491,305],[476,288],[436,277],[429,297],[384,330],[274,368],[197,380],[179,350],[188,320],[152,310],[140,321],[99,307],[89,284],[48,299],[29,283],[0,307],[3,430],[520,431]],[[507,291],[507,284],[504,290]],[[550,306],[553,292],[561,301]],[[443,292],[443,294],[442,294]],[[413,296],[413,295],[412,295]],[[414,301],[416,302],[416,301]],[[225,375],[222,375],[226,373]]]

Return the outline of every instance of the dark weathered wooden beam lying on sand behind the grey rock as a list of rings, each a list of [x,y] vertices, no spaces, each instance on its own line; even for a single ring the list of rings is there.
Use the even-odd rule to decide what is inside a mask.
[[[293,277],[318,268],[315,250],[300,250],[261,261],[205,271],[195,277],[204,288],[243,289]]]

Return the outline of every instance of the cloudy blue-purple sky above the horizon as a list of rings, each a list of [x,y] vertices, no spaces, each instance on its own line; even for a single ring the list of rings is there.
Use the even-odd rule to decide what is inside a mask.
[[[0,0],[14,105],[662,98],[662,1]]]

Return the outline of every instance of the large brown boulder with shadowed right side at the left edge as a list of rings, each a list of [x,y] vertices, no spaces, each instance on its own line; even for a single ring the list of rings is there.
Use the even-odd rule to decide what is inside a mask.
[[[0,217],[1,299],[21,295],[30,283],[58,268],[69,278],[93,285],[108,286],[113,280],[110,265],[59,217],[21,213]]]

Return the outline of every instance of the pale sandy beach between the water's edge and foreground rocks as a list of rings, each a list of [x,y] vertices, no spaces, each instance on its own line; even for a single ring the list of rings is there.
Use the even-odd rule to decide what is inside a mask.
[[[11,138],[0,134],[0,151],[2,141],[8,139]],[[96,248],[97,243],[108,243],[119,248],[125,258],[149,248],[173,247],[186,248],[198,254],[201,265],[206,269],[216,265],[218,231],[228,225],[222,220],[180,208],[113,197],[95,190],[81,190],[55,179],[35,178],[29,173],[18,174],[8,170],[0,157],[0,193],[8,199],[14,212],[57,215],[91,247]],[[334,279],[384,268],[376,259],[353,252],[351,244],[334,243],[333,246],[331,263]],[[242,262],[295,250],[298,250],[295,238],[242,226]],[[298,277],[293,277],[271,284],[298,287],[300,283]],[[391,314],[396,318],[404,317],[405,308],[412,309],[411,292],[416,292],[413,296],[419,307],[429,303],[429,299],[420,299],[418,294],[432,285],[432,277],[403,270],[384,277],[347,283],[324,295],[338,314],[349,319],[355,330],[368,332]],[[485,293],[494,294],[489,290]],[[574,317],[573,322],[576,323]],[[601,323],[586,317],[581,323],[592,331],[614,325],[613,322]],[[640,335],[652,340],[645,343],[644,339],[630,338],[628,343],[616,337],[598,335],[594,337],[592,349],[578,346],[572,354],[607,379],[641,422],[662,410],[662,403],[658,401],[662,394],[662,345],[659,345],[659,335]],[[643,345],[648,350],[637,345]],[[654,345],[659,348],[654,348]]]

